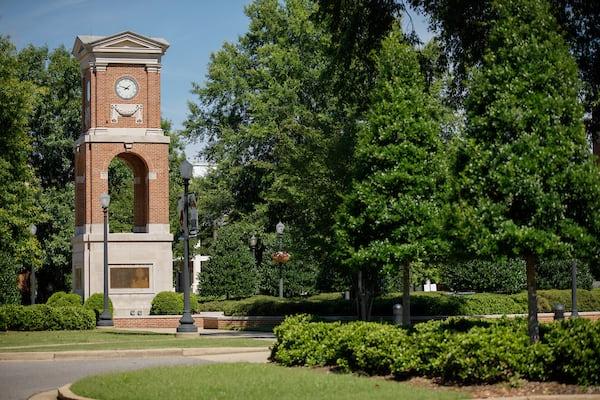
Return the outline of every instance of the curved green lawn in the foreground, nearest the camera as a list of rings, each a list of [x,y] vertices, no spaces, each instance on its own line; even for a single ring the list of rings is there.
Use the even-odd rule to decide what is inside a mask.
[[[84,378],[71,390],[99,400],[129,399],[440,399],[467,394],[272,364],[161,367]]]

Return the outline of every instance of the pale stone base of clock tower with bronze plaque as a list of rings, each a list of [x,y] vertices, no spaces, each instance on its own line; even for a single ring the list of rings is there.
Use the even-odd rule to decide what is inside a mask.
[[[87,230],[102,232],[100,226]],[[73,292],[83,299],[104,291],[103,240],[102,233],[73,238]],[[161,232],[108,235],[108,293],[114,316],[148,315],[157,293],[174,290],[172,241],[173,235]]]

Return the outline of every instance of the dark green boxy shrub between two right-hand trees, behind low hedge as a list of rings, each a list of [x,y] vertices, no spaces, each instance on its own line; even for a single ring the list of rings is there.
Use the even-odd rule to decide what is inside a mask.
[[[453,291],[517,293],[526,288],[525,262],[471,260],[443,265],[442,281]]]

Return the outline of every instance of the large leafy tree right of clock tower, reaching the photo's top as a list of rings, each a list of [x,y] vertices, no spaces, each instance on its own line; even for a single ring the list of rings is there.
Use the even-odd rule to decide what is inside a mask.
[[[328,89],[330,34],[317,11],[310,0],[251,3],[248,32],[213,54],[206,83],[194,85],[199,104],[186,132],[207,141],[203,155],[216,164],[206,181],[222,193],[207,197],[219,203],[206,204],[215,218],[296,226],[326,263],[348,152],[338,146],[345,133]]]

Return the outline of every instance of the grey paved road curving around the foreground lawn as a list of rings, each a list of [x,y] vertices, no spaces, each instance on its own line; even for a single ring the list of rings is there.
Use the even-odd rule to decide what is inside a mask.
[[[202,357],[147,357],[58,361],[0,362],[0,400],[24,400],[56,389],[84,376],[135,370],[161,365],[209,364],[214,362],[265,362],[268,353],[228,354]]]

